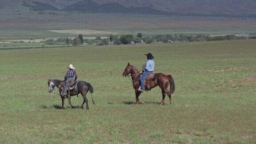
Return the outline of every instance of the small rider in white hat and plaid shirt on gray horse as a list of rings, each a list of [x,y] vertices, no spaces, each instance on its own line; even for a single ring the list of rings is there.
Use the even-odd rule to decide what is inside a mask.
[[[66,83],[65,83],[65,85],[64,85],[64,90],[63,90],[63,92],[62,92],[62,94],[61,94],[63,97],[67,95],[67,90],[68,90],[68,86],[69,86],[70,82],[71,82],[72,80],[76,80],[77,77],[78,77],[78,76],[76,75],[76,71],[75,71],[74,69],[75,69],[75,67],[73,67],[72,64],[69,64],[69,66],[68,66],[68,72],[67,72],[66,75],[64,76],[64,79],[65,79]]]

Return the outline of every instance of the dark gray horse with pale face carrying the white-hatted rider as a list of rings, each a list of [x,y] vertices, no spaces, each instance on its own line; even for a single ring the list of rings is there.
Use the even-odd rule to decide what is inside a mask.
[[[52,92],[54,87],[57,87],[59,89],[59,92],[61,93],[62,90],[60,88],[60,85],[63,82],[64,81],[62,81],[62,80],[49,80],[48,79],[48,91]],[[78,94],[81,94],[84,98],[84,102],[81,105],[81,108],[84,108],[84,103],[86,103],[86,109],[89,109],[88,99],[86,97],[86,94],[87,94],[88,91],[90,91],[91,96],[92,96],[92,92],[93,92],[92,85],[83,81],[83,80],[76,81],[74,85],[75,85],[75,88],[73,90],[70,90],[70,96],[76,96],[76,95],[78,96]],[[61,97],[61,100],[62,100],[62,106],[61,106],[61,109],[62,109],[62,108],[64,108],[65,97],[63,97],[61,95],[60,95],[60,97]],[[71,105],[70,99],[68,100],[68,103]],[[92,99],[92,103],[95,104],[93,99]]]

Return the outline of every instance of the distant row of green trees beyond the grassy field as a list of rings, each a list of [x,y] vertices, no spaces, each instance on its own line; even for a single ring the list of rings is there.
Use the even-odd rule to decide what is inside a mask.
[[[97,36],[95,39],[84,39],[83,35],[79,35],[76,38],[58,38],[58,39],[48,39],[45,40],[45,44],[49,45],[83,45],[83,44],[96,44],[96,45],[108,45],[108,44],[138,44],[146,43],[151,44],[153,42],[167,42],[171,40],[172,42],[195,42],[195,41],[216,41],[216,40],[242,40],[246,39],[245,36],[208,36],[208,35],[184,35],[184,34],[174,34],[174,35],[157,35],[157,36],[143,36],[142,33],[138,33],[136,36],[131,34],[126,35],[109,35],[107,38],[101,38]]]

